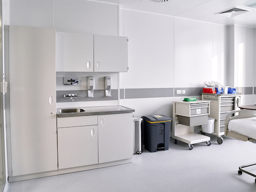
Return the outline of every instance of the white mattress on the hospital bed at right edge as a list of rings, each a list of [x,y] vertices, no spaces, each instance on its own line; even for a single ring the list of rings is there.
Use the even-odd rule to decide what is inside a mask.
[[[233,119],[228,123],[228,130],[256,140],[256,117]]]

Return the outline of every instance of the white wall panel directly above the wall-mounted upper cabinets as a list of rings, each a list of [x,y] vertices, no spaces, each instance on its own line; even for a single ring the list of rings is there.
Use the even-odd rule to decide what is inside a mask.
[[[54,0],[57,31],[118,35],[118,5],[84,0]]]

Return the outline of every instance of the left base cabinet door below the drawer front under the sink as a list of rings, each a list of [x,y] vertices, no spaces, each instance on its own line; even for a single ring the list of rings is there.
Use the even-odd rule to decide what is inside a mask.
[[[98,163],[98,126],[58,129],[59,169]]]

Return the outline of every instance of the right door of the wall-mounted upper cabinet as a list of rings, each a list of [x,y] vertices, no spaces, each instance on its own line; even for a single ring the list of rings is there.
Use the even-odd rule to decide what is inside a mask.
[[[128,71],[127,37],[94,35],[94,71]]]

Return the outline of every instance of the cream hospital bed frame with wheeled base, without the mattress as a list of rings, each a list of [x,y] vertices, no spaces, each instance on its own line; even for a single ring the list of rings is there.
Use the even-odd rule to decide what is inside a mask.
[[[252,139],[250,137],[247,137],[246,135],[242,135],[240,133],[237,133],[235,131],[229,131],[228,130],[228,123],[229,121],[231,121],[232,119],[238,119],[238,118],[250,118],[250,117],[256,117],[256,114],[254,114],[254,112],[256,113],[255,110],[233,110],[230,113],[227,114],[226,116],[226,120],[225,120],[225,135],[227,137],[232,137],[238,140],[242,140],[242,141],[250,141],[252,143],[256,143],[255,139]],[[256,178],[256,175],[251,173],[251,172],[247,172],[245,170],[243,170],[244,167],[249,167],[252,165],[256,165],[256,163],[251,163],[251,164],[247,164],[247,165],[242,165],[239,166],[239,170],[238,170],[238,174],[242,174],[243,172],[252,175],[253,177]],[[255,183],[256,183],[256,179],[255,179]]]

